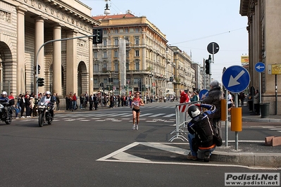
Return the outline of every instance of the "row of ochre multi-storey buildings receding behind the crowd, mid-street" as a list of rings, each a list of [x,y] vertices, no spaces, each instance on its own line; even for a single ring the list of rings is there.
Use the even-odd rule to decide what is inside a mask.
[[[101,82],[113,84],[115,94],[142,91],[149,96],[179,95],[179,89],[192,88],[188,82],[192,82],[194,70],[189,56],[181,51],[180,57],[185,60],[175,62],[175,47],[168,46],[166,35],[145,16],[137,17],[128,11],[92,18],[101,22],[96,28],[104,31],[103,44],[94,46],[94,90],[101,89]],[[126,85],[118,84],[119,38],[126,41]],[[181,63],[182,69],[177,70],[176,63]],[[108,77],[113,82],[108,83]],[[180,79],[180,84],[176,79]]]

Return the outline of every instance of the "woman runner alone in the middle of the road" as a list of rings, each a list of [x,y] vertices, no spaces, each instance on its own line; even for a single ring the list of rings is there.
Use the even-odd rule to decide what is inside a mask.
[[[138,130],[139,129],[139,114],[140,109],[139,106],[143,106],[144,102],[141,98],[139,98],[139,91],[135,92],[135,98],[132,99],[132,104],[130,107],[132,108],[132,129]],[[136,120],[136,123],[135,123]]]

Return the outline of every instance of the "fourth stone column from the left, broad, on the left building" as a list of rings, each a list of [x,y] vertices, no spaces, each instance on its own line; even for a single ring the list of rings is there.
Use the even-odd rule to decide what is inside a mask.
[[[68,38],[77,37],[77,30],[68,32]],[[66,94],[77,93],[77,39],[66,41]]]

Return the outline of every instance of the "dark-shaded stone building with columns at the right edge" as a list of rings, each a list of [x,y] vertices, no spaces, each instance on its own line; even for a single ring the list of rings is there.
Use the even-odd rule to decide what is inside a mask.
[[[281,114],[281,1],[240,0],[240,14],[248,18],[249,33],[249,86],[261,91],[261,103],[270,103],[270,115]],[[266,70],[261,73],[255,65],[262,62]],[[277,65],[279,71],[273,75],[268,65]],[[261,87],[259,84],[261,83]],[[278,86],[277,86],[278,85]]]

